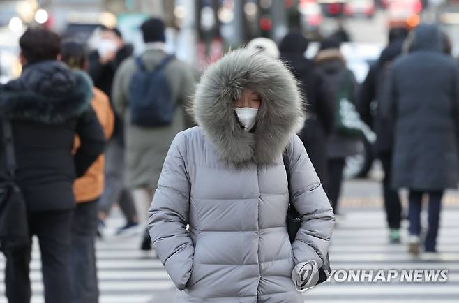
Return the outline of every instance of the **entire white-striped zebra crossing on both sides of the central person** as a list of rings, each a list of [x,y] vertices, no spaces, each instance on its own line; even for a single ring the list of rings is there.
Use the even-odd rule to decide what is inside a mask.
[[[333,279],[303,293],[305,302],[459,302],[459,207],[442,212],[438,250],[440,260],[432,262],[406,253],[406,244],[389,244],[381,208],[343,207],[338,216],[330,249],[332,269],[448,269],[446,283],[338,283]],[[426,218],[424,218],[426,220]],[[120,226],[112,219],[108,226]],[[425,225],[426,226],[426,225]],[[407,239],[407,222],[403,222],[402,242]],[[100,303],[169,303],[173,302],[174,284],[156,258],[138,250],[137,237],[107,235],[97,242]],[[0,303],[4,297],[4,259],[0,258]],[[40,253],[35,244],[31,262],[32,303],[43,303]]]

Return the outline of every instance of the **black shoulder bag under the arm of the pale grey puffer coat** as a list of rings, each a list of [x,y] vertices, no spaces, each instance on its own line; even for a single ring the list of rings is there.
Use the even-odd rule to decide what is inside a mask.
[[[282,154],[284,161],[285,172],[287,172],[287,182],[289,187],[289,206],[287,210],[287,232],[289,233],[290,243],[295,241],[296,233],[301,227],[301,215],[296,212],[295,207],[292,205],[292,191],[290,190],[290,165],[288,161],[287,152]],[[316,285],[325,282],[329,279],[331,273],[329,254],[326,254],[324,264],[319,268],[319,280]]]

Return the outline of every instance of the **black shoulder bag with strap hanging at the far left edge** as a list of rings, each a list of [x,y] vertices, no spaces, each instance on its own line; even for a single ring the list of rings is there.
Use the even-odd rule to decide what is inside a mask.
[[[3,119],[6,175],[0,178],[0,251],[21,249],[30,244],[24,196],[15,182],[16,158],[11,123]]]

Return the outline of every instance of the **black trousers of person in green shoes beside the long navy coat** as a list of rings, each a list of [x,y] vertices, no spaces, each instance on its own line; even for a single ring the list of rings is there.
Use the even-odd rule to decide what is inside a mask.
[[[391,162],[392,155],[390,151],[379,153],[379,160],[384,170],[384,179],[382,181],[382,192],[384,195],[384,209],[386,210],[386,219],[389,228],[400,228],[402,221],[402,204],[398,191],[391,188]]]

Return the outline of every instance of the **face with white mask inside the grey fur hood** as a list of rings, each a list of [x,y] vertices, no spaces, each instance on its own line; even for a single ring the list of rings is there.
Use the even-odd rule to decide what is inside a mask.
[[[241,98],[234,101],[234,111],[244,126],[244,131],[250,131],[255,126],[260,103],[259,95],[250,89],[244,89]]]

